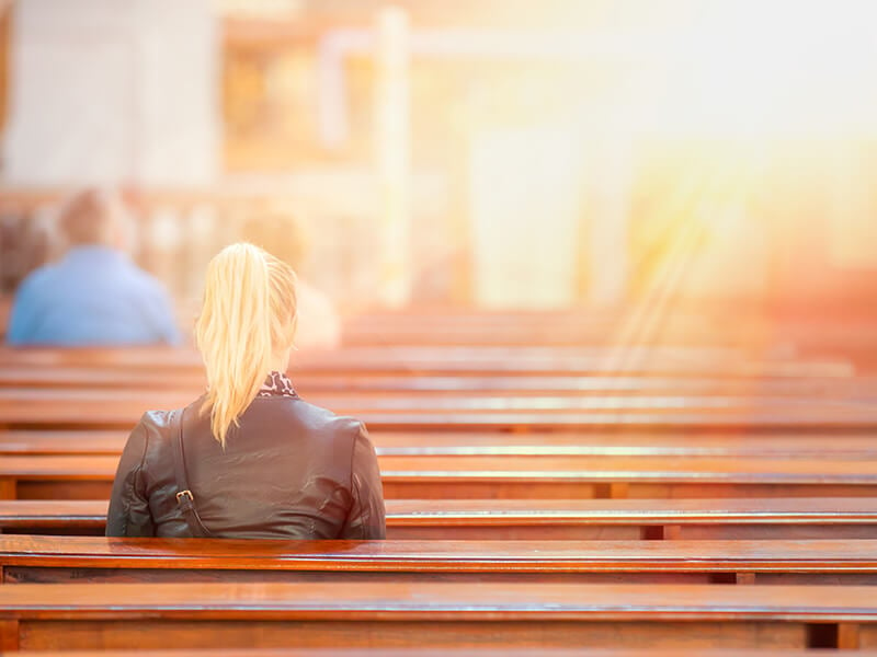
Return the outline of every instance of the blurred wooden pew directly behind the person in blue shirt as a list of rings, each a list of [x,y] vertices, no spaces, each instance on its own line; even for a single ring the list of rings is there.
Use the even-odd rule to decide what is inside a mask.
[[[0,364],[18,368],[89,367],[143,371],[203,371],[192,349],[167,347],[10,348],[0,346]],[[841,359],[790,360],[741,357],[739,351],[612,347],[351,347],[297,354],[291,368],[303,373],[585,376],[647,374],[714,377],[847,378],[852,364]]]

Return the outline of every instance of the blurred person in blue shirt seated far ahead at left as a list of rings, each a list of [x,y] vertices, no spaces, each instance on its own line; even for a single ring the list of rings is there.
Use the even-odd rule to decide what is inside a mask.
[[[161,284],[121,250],[122,200],[89,189],[61,210],[69,249],[19,286],[7,331],[10,345],[113,346],[180,343]]]

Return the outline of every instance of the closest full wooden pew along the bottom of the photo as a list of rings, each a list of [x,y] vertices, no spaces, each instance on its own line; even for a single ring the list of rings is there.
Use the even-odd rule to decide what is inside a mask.
[[[5,650],[874,648],[874,587],[492,583],[0,587]]]

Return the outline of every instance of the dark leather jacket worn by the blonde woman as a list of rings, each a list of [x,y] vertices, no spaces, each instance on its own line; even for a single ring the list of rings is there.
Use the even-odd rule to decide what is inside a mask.
[[[383,539],[380,472],[365,426],[296,394],[260,395],[213,438],[203,399],[185,410],[190,488],[217,538]],[[118,463],[106,518],[111,537],[191,537],[178,507],[170,412],[146,413]]]

